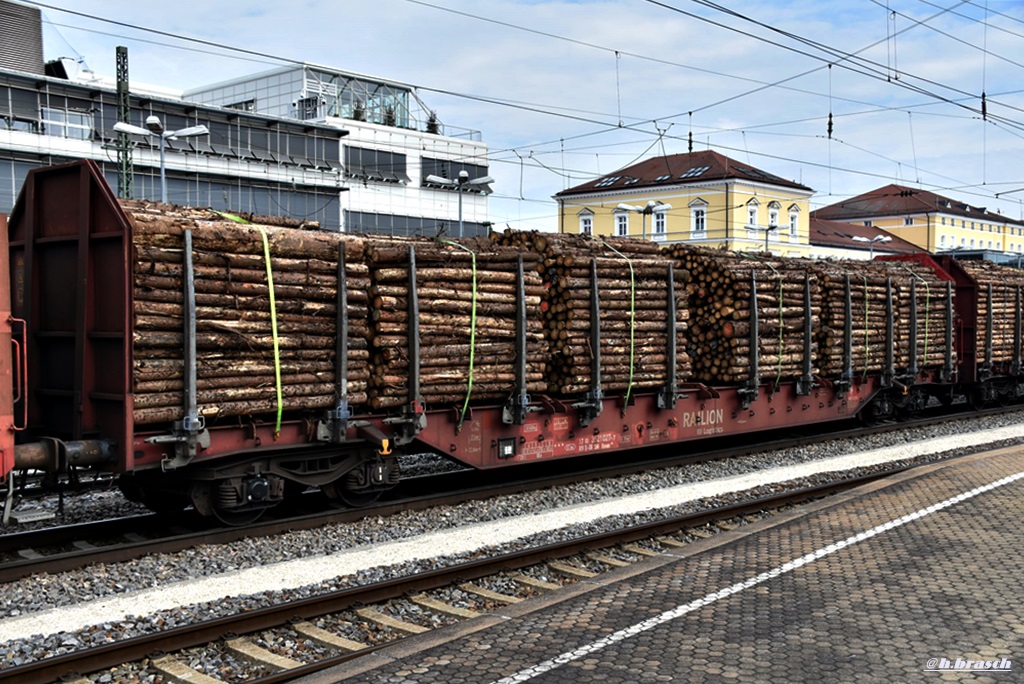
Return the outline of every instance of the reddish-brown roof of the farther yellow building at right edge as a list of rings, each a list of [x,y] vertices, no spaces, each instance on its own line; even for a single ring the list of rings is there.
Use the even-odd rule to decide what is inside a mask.
[[[963,216],[976,221],[1024,225],[1024,221],[990,213],[985,207],[973,207],[929,190],[896,183],[822,207],[812,212],[812,215],[833,221],[847,221],[855,218],[869,219],[878,216],[907,216],[934,212]]]

